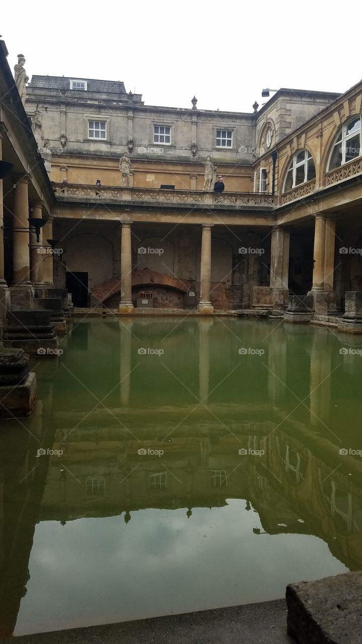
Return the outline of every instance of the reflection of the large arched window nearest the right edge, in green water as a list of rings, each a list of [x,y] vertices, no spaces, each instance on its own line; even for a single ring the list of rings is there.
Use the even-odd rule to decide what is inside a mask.
[[[337,523],[342,520],[343,527],[347,526],[347,533],[359,532],[362,527],[362,507],[350,492],[345,492],[336,486],[334,480],[325,480],[321,469],[319,472],[319,483],[323,495],[330,507],[330,516],[336,518]],[[322,478],[323,477],[323,478]],[[339,520],[339,521],[338,521]]]

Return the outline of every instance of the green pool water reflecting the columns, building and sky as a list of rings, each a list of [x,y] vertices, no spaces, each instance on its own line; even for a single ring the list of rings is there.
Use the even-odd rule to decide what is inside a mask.
[[[1,427],[0,635],[361,569],[362,339],[150,317],[75,321],[60,348]]]

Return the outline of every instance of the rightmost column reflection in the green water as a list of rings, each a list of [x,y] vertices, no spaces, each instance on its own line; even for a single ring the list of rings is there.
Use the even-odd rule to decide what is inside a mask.
[[[330,350],[325,332],[315,332],[310,352],[310,422],[318,424],[330,412]]]

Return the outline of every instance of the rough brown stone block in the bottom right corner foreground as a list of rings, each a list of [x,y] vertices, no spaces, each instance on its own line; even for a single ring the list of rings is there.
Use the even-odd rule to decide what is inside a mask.
[[[361,644],[362,572],[291,583],[285,597],[298,644]]]

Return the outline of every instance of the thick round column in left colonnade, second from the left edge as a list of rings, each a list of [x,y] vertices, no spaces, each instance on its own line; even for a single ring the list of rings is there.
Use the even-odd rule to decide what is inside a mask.
[[[28,176],[23,175],[14,192],[13,281],[11,307],[32,308],[33,287],[30,281]]]

